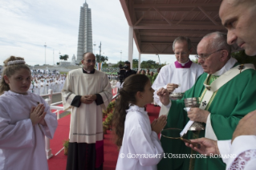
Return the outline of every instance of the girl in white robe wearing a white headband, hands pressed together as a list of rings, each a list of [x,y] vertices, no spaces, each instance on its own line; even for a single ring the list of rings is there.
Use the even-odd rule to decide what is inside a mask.
[[[0,169],[47,170],[45,136],[52,139],[56,115],[30,93],[31,72],[24,59],[4,61],[0,84]]]

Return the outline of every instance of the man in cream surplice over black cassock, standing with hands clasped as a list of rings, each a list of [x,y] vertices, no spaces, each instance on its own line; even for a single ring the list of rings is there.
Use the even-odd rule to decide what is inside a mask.
[[[103,169],[102,110],[112,100],[108,76],[96,71],[95,55],[83,54],[83,68],[68,73],[62,90],[64,108],[71,107],[67,169]]]

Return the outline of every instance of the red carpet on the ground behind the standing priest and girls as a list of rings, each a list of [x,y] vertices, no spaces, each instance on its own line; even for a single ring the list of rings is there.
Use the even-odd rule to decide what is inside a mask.
[[[148,104],[147,111],[149,119],[152,122],[153,119],[158,117],[160,107],[154,107],[154,105]],[[68,139],[70,116],[71,115],[66,115],[58,120],[59,125],[56,129],[54,139],[51,140],[51,151],[54,156],[48,160],[50,170],[66,169],[67,156],[64,155],[63,151],[57,156],[55,156],[55,154],[63,148],[63,140]],[[108,134],[104,135],[104,170],[116,169],[116,161],[119,151],[114,144],[113,137],[114,135],[112,134],[112,131],[108,131]]]

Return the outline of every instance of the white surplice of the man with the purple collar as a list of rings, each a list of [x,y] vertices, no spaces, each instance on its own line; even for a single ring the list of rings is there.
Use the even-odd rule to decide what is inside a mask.
[[[199,75],[203,73],[203,69],[197,63],[192,63],[189,68],[177,68],[175,63],[170,63],[161,68],[156,80],[152,84],[152,89],[155,90],[154,100],[158,105],[162,105],[156,92],[161,88],[167,87],[168,83],[180,84],[173,93],[183,93],[193,87]]]

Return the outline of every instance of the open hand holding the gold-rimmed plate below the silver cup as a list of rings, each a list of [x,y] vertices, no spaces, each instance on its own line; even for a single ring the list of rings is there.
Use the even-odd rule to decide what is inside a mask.
[[[192,144],[185,143],[187,147],[192,148],[194,151],[199,152],[201,154],[206,154],[209,156],[210,154],[220,155],[220,152],[217,148],[217,141],[210,140],[208,138],[199,138],[196,140],[190,140],[192,143],[200,144],[200,148],[193,147]]]

